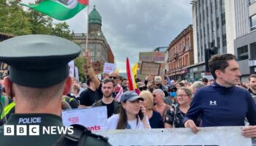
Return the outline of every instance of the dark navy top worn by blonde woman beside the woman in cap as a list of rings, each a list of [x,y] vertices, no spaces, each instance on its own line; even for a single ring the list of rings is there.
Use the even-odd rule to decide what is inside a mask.
[[[152,117],[149,119],[149,124],[151,128],[165,128],[161,115],[159,112],[155,112],[154,110]]]

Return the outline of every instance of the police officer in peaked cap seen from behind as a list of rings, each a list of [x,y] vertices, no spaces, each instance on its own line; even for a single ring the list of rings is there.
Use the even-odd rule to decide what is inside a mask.
[[[68,62],[80,54],[78,45],[60,37],[26,35],[1,42],[0,52],[0,61],[10,65],[10,74],[4,80],[6,93],[15,97],[15,114],[10,115],[4,125],[14,125],[14,136],[4,136],[7,131],[4,126],[0,127],[1,145],[56,145],[56,142],[69,145],[70,140],[72,145],[86,145],[88,135],[91,141],[96,137],[108,144],[108,140],[90,134],[82,126],[75,126],[70,135],[56,130],[51,134],[42,133],[43,127],[63,126],[61,98],[69,93],[72,85]],[[26,136],[17,136],[18,125],[27,128],[23,128]],[[37,136],[31,136],[37,131],[29,130],[33,125],[39,126]]]

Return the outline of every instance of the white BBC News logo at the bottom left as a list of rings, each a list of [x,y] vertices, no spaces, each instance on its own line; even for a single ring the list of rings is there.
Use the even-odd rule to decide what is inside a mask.
[[[74,134],[74,129],[72,126],[4,125],[5,136],[39,136],[40,134]]]

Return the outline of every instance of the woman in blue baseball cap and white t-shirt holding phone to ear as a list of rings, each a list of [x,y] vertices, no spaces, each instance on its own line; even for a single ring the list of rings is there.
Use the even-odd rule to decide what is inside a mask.
[[[140,105],[143,98],[127,91],[121,95],[121,110],[118,115],[108,118],[108,129],[151,128],[144,114],[146,108]]]

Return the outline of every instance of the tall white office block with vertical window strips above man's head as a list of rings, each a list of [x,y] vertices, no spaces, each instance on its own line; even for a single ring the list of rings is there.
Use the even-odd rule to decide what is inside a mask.
[[[192,22],[195,65],[189,66],[190,73],[206,72],[204,50],[218,48],[218,54],[234,54],[235,19],[233,0],[193,0]],[[228,27],[227,27],[228,26]],[[204,68],[204,69],[203,69]],[[202,76],[198,75],[197,78]]]

